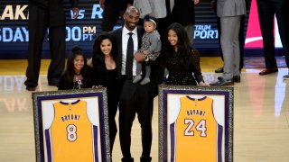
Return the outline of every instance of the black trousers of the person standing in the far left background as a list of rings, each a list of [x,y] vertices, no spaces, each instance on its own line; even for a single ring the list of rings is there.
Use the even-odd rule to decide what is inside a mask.
[[[48,69],[48,81],[59,82],[65,67],[65,25],[50,26],[48,10],[35,4],[29,5],[29,45],[27,80],[25,85],[37,85],[42,59],[42,43],[49,28],[51,64]]]

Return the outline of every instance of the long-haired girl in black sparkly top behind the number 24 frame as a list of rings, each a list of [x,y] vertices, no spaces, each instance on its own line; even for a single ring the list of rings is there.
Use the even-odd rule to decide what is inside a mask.
[[[188,35],[180,23],[172,23],[164,33],[161,66],[169,76],[166,85],[201,85],[207,86],[200,72],[199,52],[191,48]]]

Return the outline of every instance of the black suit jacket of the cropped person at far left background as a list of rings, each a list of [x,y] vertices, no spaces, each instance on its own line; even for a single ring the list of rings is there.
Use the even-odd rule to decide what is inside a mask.
[[[29,0],[30,5],[36,5],[42,8],[43,12],[48,11],[49,25],[65,25],[64,0]],[[79,0],[70,0],[71,8],[78,7]],[[33,16],[33,15],[30,15]]]

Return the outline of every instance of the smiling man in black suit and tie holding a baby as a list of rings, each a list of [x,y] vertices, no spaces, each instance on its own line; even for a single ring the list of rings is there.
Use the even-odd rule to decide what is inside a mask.
[[[149,84],[133,84],[133,78],[136,75],[136,60],[142,62],[145,59],[143,54],[135,54],[135,59],[133,56],[137,49],[140,49],[144,34],[144,28],[137,26],[139,16],[139,10],[135,6],[128,7],[124,14],[124,27],[111,31],[111,34],[117,42],[117,73],[122,89],[119,99],[119,139],[123,154],[122,161],[134,161],[130,153],[131,128],[135,120],[135,113],[137,113],[142,130],[141,162],[146,162],[152,160],[150,157],[153,136],[152,118],[157,84],[154,67],[152,67]]]

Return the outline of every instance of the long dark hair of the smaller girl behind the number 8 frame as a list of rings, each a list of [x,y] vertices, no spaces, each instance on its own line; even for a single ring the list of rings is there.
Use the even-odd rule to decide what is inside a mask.
[[[84,59],[84,65],[83,67],[80,69],[80,74],[82,75],[83,78],[86,78],[87,76],[89,76],[88,73],[88,65],[87,65],[87,58],[85,57],[84,53],[82,52],[82,49],[79,48],[79,46],[74,46],[72,48],[72,53],[70,54],[69,58],[67,59],[67,65],[66,65],[66,70],[65,73],[67,75],[67,77],[69,78],[70,83],[73,83],[73,77],[75,75],[74,72],[74,58],[76,58],[77,56],[82,56]]]

